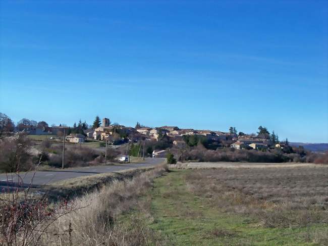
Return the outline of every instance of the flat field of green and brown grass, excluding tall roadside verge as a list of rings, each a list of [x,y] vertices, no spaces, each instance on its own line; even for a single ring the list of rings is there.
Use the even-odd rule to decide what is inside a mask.
[[[131,214],[173,245],[328,245],[327,175],[327,166],[176,169],[154,180],[150,219]]]

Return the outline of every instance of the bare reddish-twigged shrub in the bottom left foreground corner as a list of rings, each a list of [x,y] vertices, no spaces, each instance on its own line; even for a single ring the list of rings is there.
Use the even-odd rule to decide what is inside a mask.
[[[0,196],[0,245],[39,245],[41,236],[47,232],[48,227],[74,210],[73,204],[68,205],[66,201],[62,201],[49,207],[46,195],[31,193],[33,179],[28,188],[21,191],[23,181],[19,173],[17,176],[17,188],[9,188]]]

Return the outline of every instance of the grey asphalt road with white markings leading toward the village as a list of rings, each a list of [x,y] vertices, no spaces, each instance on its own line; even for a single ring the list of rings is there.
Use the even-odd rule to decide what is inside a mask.
[[[127,163],[122,165],[77,167],[64,170],[46,170],[36,172],[22,172],[20,176],[16,173],[0,174],[0,192],[10,186],[16,186],[19,180],[23,181],[21,187],[28,187],[32,178],[32,185],[39,186],[64,179],[89,176],[99,173],[117,172],[138,167],[149,167],[162,163],[164,158],[145,158],[145,163]],[[33,177],[34,175],[34,177]]]

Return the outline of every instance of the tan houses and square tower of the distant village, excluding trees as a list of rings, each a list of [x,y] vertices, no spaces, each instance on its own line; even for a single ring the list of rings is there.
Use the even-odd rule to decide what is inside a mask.
[[[59,131],[63,132],[64,128],[62,126],[53,126],[53,127],[37,127],[37,126],[26,126],[25,131],[28,134],[43,135],[43,134],[53,134],[57,135]],[[122,139],[122,136],[129,136],[129,139],[133,140],[158,140],[163,135],[169,136],[173,140],[173,144],[177,147],[183,148],[186,146],[184,141],[184,136],[202,136],[213,141],[227,141],[230,140],[232,143],[230,147],[241,150],[241,149],[255,149],[261,150],[265,149],[268,146],[272,146],[272,142],[268,139],[258,138],[255,135],[240,135],[232,134],[229,132],[221,131],[211,131],[211,130],[195,130],[195,129],[180,129],[177,126],[161,126],[161,127],[127,127],[123,125],[111,125],[108,118],[102,119],[101,126],[95,129],[84,130],[83,134],[70,134],[66,136],[66,141],[79,143],[84,142],[87,138],[95,140],[107,140],[109,142],[114,142],[118,139]],[[276,144],[276,147],[283,148],[283,144]],[[153,153],[161,154],[161,153]]]

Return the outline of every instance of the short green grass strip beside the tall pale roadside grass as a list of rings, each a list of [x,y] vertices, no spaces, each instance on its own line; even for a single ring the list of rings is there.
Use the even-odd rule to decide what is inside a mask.
[[[174,245],[321,245],[313,235],[328,231],[323,225],[264,228],[254,218],[213,207],[188,190],[184,177],[192,171],[175,170],[156,178],[150,191],[148,226]]]

